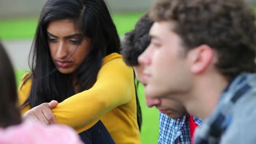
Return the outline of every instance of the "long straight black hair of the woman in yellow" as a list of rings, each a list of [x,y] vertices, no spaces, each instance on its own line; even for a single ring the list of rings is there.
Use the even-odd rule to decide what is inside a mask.
[[[96,82],[102,59],[110,53],[120,53],[117,29],[103,0],[49,0],[44,5],[30,51],[32,79],[28,99],[22,105],[38,106],[51,100],[59,102],[71,97],[74,92],[71,74],[62,74],[51,60],[46,28],[49,22],[68,19],[74,23],[82,36],[91,39],[89,55],[76,71],[78,92],[90,89]],[[140,127],[140,125],[139,125]]]

